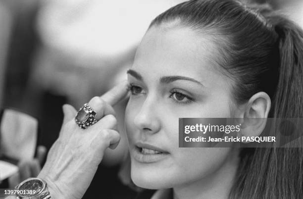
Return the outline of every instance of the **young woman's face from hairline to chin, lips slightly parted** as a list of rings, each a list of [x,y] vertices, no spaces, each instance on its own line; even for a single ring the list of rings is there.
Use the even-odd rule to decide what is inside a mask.
[[[215,67],[215,46],[186,28],[152,27],[128,72],[125,125],[131,176],[149,189],[182,186],[215,173],[228,148],[178,148],[179,117],[231,117],[231,86]]]

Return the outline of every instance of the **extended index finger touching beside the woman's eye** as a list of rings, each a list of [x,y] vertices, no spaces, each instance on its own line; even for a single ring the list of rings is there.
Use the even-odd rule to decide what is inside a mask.
[[[113,106],[127,95],[128,87],[128,81],[125,80],[113,87],[111,90],[107,91],[100,98]]]

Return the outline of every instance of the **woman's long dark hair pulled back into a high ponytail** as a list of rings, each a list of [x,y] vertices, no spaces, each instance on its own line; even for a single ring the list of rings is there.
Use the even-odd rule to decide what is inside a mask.
[[[269,117],[303,116],[303,31],[269,6],[236,0],[190,0],[157,16],[153,26],[187,27],[213,38],[217,63],[234,80],[236,103],[269,95]],[[242,149],[232,199],[303,197],[302,148]]]

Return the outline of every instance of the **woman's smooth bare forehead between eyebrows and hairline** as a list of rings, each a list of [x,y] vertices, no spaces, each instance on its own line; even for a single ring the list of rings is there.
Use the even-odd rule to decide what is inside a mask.
[[[190,28],[152,27],[138,47],[132,69],[159,76],[187,74],[201,81],[210,72],[217,75],[217,53],[209,38]]]

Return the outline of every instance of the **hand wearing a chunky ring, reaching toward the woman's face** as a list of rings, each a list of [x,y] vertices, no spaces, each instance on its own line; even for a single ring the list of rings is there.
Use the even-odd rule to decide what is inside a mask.
[[[52,145],[47,161],[38,178],[48,184],[51,198],[81,199],[89,187],[104,150],[114,149],[120,140],[115,131],[116,118],[112,105],[127,95],[127,82],[114,87],[101,97],[90,100],[89,105],[100,119],[88,129],[75,123],[77,111],[64,105],[64,119],[59,138]]]

